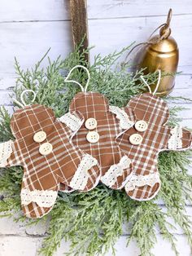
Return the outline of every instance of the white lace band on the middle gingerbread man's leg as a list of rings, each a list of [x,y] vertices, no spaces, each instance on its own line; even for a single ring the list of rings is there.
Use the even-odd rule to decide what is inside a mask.
[[[109,170],[107,170],[107,173],[101,177],[101,181],[111,188],[116,183],[117,178],[124,174],[124,170],[129,168],[130,164],[131,161],[129,157],[122,157],[118,164],[111,166]]]

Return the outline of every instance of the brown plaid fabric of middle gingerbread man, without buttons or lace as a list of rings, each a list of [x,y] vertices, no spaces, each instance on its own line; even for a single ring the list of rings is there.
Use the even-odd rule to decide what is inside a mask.
[[[69,108],[70,113],[80,113],[86,121],[93,117],[97,121],[95,131],[98,132],[98,143],[89,143],[86,135],[89,130],[85,128],[85,122],[77,130],[72,138],[72,143],[76,144],[84,152],[98,160],[102,169],[102,176],[107,173],[111,166],[120,163],[120,159],[125,156],[124,152],[116,143],[116,136],[120,133],[119,120],[116,115],[109,111],[107,99],[94,92],[80,92],[73,99]],[[132,166],[122,170],[122,174],[116,177],[116,182],[111,186],[114,189],[120,189],[129,180],[132,172]]]

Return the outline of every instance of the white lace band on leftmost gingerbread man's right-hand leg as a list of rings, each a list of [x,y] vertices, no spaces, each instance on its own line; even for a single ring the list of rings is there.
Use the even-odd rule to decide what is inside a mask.
[[[69,186],[76,190],[84,190],[89,179],[88,170],[97,164],[98,161],[96,158],[91,157],[89,154],[85,154],[76,170],[76,173],[72,177]]]

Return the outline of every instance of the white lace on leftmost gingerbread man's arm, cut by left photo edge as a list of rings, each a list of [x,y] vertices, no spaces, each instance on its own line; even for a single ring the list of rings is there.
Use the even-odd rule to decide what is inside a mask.
[[[0,143],[0,167],[7,166],[7,159],[11,157],[13,141]]]

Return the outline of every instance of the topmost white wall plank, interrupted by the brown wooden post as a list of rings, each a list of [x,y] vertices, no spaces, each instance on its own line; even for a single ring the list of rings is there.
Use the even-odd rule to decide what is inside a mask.
[[[174,15],[191,15],[190,0],[87,0],[89,19],[118,19],[164,16],[172,7]],[[0,22],[70,20],[69,0],[1,0]]]

